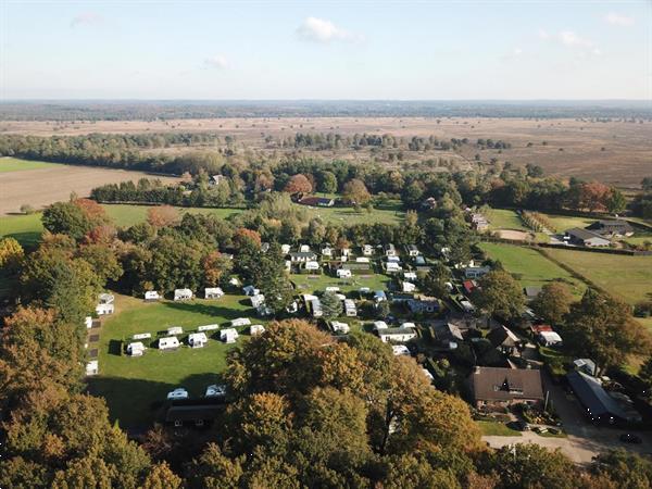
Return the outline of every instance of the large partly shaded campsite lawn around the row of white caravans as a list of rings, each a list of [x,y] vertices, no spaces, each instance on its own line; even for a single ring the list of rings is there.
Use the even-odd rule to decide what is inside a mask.
[[[116,296],[116,313],[102,322],[99,341],[100,375],[89,379],[91,393],[106,399],[112,419],[122,426],[151,423],[168,391],[185,387],[191,397],[203,396],[206,386],[220,381],[226,367],[226,353],[234,344],[211,340],[201,349],[187,346],[177,351],[149,349],[143,356],[120,355],[118,341],[138,333],[155,333],[170,326],[185,330],[204,324],[224,326],[235,317],[255,317],[244,296],[225,296],[215,301],[161,301],[145,303],[140,299]],[[243,328],[247,330],[247,328]],[[241,336],[238,343],[246,341]],[[185,343],[185,336],[179,337]],[[237,344],[237,343],[236,343]]]

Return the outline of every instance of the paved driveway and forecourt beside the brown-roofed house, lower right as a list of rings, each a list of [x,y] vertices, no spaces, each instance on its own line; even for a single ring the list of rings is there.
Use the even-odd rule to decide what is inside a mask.
[[[482,437],[493,448],[511,443],[538,443],[549,449],[561,449],[568,457],[579,464],[591,462],[591,459],[609,449],[625,448],[639,453],[652,453],[652,439],[648,432],[636,434],[642,438],[641,444],[623,443],[618,437],[626,432],[623,429],[598,427],[587,423],[580,405],[564,389],[555,386],[544,376],[546,386],[550,392],[550,402],[564,424],[567,438],[541,437],[531,431],[524,431],[521,437]],[[632,432],[632,431],[628,431]]]

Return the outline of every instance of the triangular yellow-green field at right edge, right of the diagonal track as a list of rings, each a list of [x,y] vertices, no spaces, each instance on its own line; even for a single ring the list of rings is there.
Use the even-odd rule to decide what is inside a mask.
[[[652,294],[652,256],[556,249],[548,249],[546,252],[630,304]]]

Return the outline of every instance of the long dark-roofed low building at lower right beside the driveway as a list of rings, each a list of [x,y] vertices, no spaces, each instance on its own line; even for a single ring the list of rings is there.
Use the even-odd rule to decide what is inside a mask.
[[[567,374],[566,379],[593,423],[625,425],[641,422],[641,415],[630,402],[610,394],[595,377],[575,371]]]

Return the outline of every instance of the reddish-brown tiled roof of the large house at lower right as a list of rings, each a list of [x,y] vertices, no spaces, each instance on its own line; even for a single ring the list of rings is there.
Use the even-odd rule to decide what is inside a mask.
[[[541,371],[476,367],[468,378],[476,401],[543,399]]]

